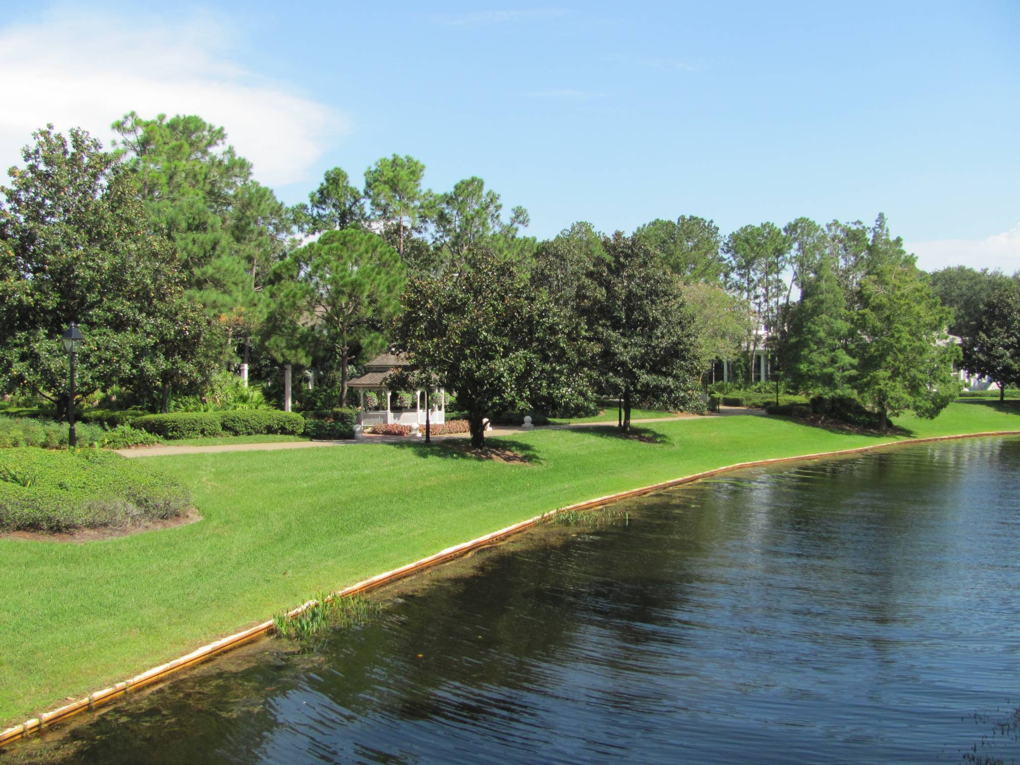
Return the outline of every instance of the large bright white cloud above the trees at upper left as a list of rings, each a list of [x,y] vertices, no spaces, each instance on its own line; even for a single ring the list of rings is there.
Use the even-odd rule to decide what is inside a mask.
[[[20,163],[21,147],[47,122],[85,128],[108,145],[110,123],[134,109],[222,125],[267,186],[307,180],[347,121],[232,60],[232,37],[208,14],[167,24],[66,9],[0,30],[0,167]]]

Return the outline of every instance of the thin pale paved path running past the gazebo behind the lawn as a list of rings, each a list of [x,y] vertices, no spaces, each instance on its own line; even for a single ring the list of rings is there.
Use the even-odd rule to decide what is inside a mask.
[[[760,414],[761,409],[744,409],[742,407],[720,407],[718,414],[698,415],[681,414],[675,417],[648,417],[646,419],[632,419],[631,424],[641,425],[646,422],[673,422],[676,420],[703,419],[709,417],[727,417],[734,415]],[[541,430],[566,430],[575,427],[606,427],[615,426],[616,420],[605,420],[603,422],[571,422],[566,425],[543,425]],[[532,428],[533,430],[534,428]],[[489,435],[494,437],[510,436],[513,434],[531,432],[523,427],[508,427],[497,425],[490,430]],[[466,439],[470,434],[458,432],[446,436],[434,436],[437,441],[444,439]],[[268,444],[222,444],[219,446],[156,446],[156,447],[136,447],[134,449],[116,449],[117,454],[124,457],[165,457],[174,454],[218,454],[219,452],[275,452],[282,449],[317,449],[327,446],[362,446],[365,444],[403,444],[407,443],[407,436],[365,436],[362,441],[282,441]]]

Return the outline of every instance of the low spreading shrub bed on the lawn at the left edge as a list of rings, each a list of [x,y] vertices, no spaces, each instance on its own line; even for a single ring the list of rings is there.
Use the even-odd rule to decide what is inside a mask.
[[[65,531],[171,518],[191,504],[172,478],[96,450],[0,451],[0,529]]]

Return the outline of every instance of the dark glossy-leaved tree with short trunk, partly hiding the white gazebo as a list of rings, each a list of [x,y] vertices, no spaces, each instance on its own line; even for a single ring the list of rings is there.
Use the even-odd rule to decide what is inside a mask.
[[[407,355],[409,373],[457,391],[480,448],[492,412],[561,405],[589,386],[577,368],[582,343],[563,310],[512,262],[487,251],[468,253],[466,262],[458,276],[410,282],[395,350]]]

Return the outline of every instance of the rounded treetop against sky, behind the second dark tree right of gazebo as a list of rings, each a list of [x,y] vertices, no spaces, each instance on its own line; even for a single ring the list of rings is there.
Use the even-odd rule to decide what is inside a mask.
[[[658,218],[638,228],[634,236],[685,284],[714,285],[722,276],[722,237],[712,220],[697,215],[680,215],[675,223]]]

